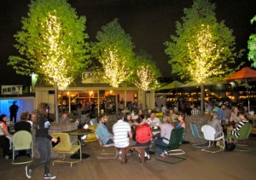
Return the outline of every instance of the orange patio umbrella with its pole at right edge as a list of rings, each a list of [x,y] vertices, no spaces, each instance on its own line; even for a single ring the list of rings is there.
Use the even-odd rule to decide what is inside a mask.
[[[241,80],[247,84],[248,81],[256,81],[256,70],[251,67],[243,67],[240,71],[233,73],[229,78],[224,78],[227,82],[232,82],[234,80]],[[247,86],[247,95],[249,95],[249,89]],[[248,109],[250,110],[250,101],[248,96]]]

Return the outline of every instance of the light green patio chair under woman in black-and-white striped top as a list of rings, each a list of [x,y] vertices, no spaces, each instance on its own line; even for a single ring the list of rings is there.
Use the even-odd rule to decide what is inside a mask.
[[[237,151],[251,151],[251,148],[246,147],[247,145],[245,144],[244,141],[249,138],[250,133],[252,131],[252,128],[253,128],[253,125],[250,124],[250,123],[247,123],[247,124],[241,126],[241,129],[239,131],[239,134],[240,134],[239,137],[232,136],[231,134],[227,135],[227,139],[236,139],[238,142],[239,141],[243,142],[242,144],[237,143],[235,150],[237,150]]]

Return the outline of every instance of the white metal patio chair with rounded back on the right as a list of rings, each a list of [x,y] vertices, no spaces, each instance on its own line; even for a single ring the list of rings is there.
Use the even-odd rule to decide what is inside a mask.
[[[217,153],[219,151],[223,151],[225,148],[225,140],[224,140],[224,132],[220,131],[216,133],[215,129],[211,125],[203,125],[201,127],[201,131],[204,133],[205,139],[209,142],[207,148],[202,148],[202,151]],[[215,141],[222,141],[222,148],[218,148],[217,150],[211,150]]]

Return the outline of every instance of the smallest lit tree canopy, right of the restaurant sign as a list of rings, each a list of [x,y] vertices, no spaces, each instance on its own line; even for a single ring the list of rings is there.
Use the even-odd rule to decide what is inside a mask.
[[[159,83],[160,70],[156,67],[152,57],[146,52],[141,51],[136,58],[133,83],[141,90],[155,90]]]

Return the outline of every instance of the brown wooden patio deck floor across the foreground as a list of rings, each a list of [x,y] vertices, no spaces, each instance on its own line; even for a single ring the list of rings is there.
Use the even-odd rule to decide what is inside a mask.
[[[154,160],[145,164],[139,163],[137,153],[128,156],[127,163],[121,164],[116,160],[98,160],[102,152],[97,142],[89,143],[83,147],[83,152],[90,154],[90,158],[74,164],[56,163],[50,166],[50,171],[60,180],[115,180],[115,179],[256,179],[256,136],[250,136],[247,144],[250,152],[219,152],[211,154],[192,147],[191,143],[183,144],[181,148],[186,152],[184,160],[175,165]],[[97,148],[98,147],[98,148]],[[114,148],[108,151],[114,152]],[[4,180],[26,179],[26,165],[12,165],[11,160],[0,158],[0,178]],[[38,166],[32,172],[32,179],[44,179],[44,165]]]

